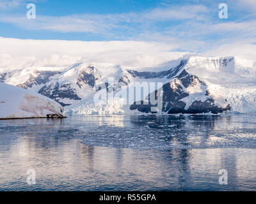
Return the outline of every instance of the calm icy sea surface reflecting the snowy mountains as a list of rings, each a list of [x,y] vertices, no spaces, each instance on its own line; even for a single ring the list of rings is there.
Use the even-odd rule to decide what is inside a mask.
[[[0,120],[0,191],[20,190],[256,191],[256,115]]]

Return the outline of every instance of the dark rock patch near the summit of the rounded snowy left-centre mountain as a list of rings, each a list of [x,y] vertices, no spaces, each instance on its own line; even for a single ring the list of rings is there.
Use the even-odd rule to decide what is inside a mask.
[[[95,86],[95,81],[98,80],[98,78],[95,78],[94,72],[95,68],[93,66],[88,66],[88,68],[79,71],[76,84],[80,89],[86,84],[90,85],[91,87]]]

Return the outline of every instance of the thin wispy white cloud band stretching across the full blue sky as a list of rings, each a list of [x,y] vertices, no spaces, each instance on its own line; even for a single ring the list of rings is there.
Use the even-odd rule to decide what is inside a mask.
[[[245,2],[255,5],[251,0],[245,0]],[[241,1],[235,0],[233,3],[237,5]],[[212,13],[215,12],[216,16],[218,15],[218,7],[215,9],[212,10],[211,6],[191,4],[166,6],[140,13],[83,14],[63,17],[37,15],[33,20],[27,19],[24,15],[1,15],[0,22],[14,24],[28,30],[98,34],[106,40],[141,40],[141,38],[152,40],[155,38],[154,41],[163,41],[163,39],[173,42],[186,41],[193,45],[196,45],[193,42],[197,41],[198,45],[202,46],[204,42],[211,43],[212,36],[220,38],[216,39],[215,43],[255,36],[255,20],[239,20],[239,22],[220,21],[216,18],[213,20]],[[166,27],[159,28],[161,22],[166,23]],[[195,46],[189,50],[192,48]]]

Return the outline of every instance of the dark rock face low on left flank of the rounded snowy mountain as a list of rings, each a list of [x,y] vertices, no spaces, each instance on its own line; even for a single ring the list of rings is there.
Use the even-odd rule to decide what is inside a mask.
[[[60,85],[58,82],[56,82],[55,85],[44,85],[44,87],[42,87],[42,89],[40,89],[38,93],[47,96],[51,99],[54,99],[54,101],[57,101],[62,106],[67,106],[70,104],[61,103],[60,99],[66,98],[81,100],[81,98],[77,96],[76,89],[74,89],[71,84]]]

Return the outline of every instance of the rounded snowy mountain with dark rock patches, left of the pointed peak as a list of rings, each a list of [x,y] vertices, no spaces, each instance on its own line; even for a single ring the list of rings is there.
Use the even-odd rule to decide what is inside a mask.
[[[111,75],[113,73],[114,75]],[[71,105],[97,91],[109,77],[122,75],[122,69],[112,64],[77,63],[44,85],[38,92],[58,101],[61,105]]]

